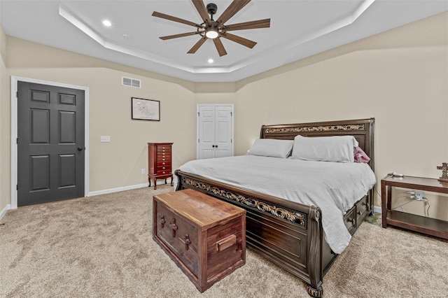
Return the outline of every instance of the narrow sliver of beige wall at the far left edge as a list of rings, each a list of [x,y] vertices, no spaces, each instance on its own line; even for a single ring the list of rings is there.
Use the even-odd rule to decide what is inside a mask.
[[[6,76],[6,35],[0,24],[0,213],[10,204],[10,130]]]

